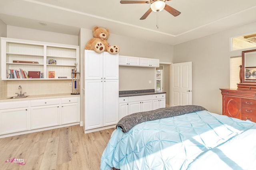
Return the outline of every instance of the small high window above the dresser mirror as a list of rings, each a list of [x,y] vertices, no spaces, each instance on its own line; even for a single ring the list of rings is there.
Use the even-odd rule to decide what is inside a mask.
[[[232,38],[232,51],[256,47],[256,33]]]

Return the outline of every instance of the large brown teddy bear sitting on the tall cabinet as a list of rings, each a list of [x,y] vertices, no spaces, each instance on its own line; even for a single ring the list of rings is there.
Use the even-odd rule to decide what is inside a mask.
[[[96,53],[102,53],[107,51],[110,54],[117,54],[120,48],[117,45],[109,45],[107,39],[109,36],[109,30],[106,28],[95,26],[92,29],[93,38],[91,38],[84,49],[94,50]]]

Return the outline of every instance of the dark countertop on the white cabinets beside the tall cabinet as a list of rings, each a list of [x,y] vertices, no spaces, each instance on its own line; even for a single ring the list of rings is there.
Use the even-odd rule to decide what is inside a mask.
[[[154,89],[146,89],[146,90],[126,90],[119,91],[119,97],[129,97],[129,96],[142,96],[142,95],[150,95],[150,94],[164,94],[166,92],[158,92]]]

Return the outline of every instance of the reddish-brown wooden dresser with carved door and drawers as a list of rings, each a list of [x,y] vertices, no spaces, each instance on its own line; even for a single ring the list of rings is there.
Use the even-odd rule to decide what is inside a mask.
[[[254,85],[255,86],[255,85]],[[220,89],[222,115],[256,122],[256,91],[248,88]]]

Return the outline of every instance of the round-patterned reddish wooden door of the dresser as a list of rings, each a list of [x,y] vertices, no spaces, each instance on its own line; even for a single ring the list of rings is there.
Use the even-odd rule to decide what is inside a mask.
[[[225,96],[225,115],[242,119],[241,98]]]

